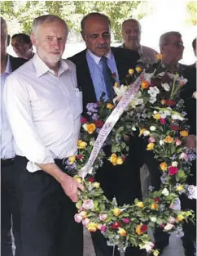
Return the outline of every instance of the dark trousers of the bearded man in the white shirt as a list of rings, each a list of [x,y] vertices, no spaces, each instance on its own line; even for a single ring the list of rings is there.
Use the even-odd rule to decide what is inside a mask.
[[[75,204],[54,177],[29,173],[26,164],[27,159],[16,156],[23,256],[82,256],[83,231],[74,221]]]

